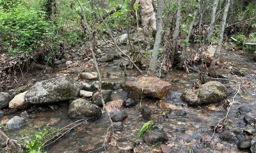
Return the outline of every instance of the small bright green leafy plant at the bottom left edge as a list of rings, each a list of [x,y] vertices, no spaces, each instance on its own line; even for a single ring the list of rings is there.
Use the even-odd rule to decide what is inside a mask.
[[[42,144],[44,143],[44,138],[48,133],[49,131],[47,129],[38,129],[38,131],[35,131],[33,138],[26,145],[28,151],[25,153],[44,152],[42,150]]]

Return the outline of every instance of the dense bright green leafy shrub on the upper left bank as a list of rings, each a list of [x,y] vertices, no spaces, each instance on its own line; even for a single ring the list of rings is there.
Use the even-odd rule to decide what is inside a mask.
[[[0,31],[4,50],[8,54],[31,52],[44,40],[54,36],[54,26],[45,20],[45,12],[16,6],[8,11],[0,10]]]

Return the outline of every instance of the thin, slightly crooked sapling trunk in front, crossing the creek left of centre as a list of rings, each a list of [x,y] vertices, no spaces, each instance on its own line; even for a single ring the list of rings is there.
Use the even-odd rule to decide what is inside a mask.
[[[93,52],[93,34],[92,34],[92,31],[88,25],[88,22],[86,20],[86,17],[85,17],[85,13],[84,13],[84,8],[81,4],[81,2],[79,0],[77,0],[77,3],[79,4],[80,8],[81,8],[81,12],[82,12],[82,15],[83,15],[83,21],[84,21],[84,25],[86,26],[86,29],[87,29],[87,33],[88,33],[88,36],[89,36],[89,43],[90,43],[90,50],[92,52],[92,57],[93,57],[93,62],[94,62],[94,65],[95,65],[95,69],[97,71],[97,74],[98,74],[98,78],[99,78],[99,93],[100,93],[100,99],[101,99],[101,103],[103,105],[103,108],[104,110],[106,111],[107,113],[107,116],[108,116],[108,119],[109,119],[109,123],[110,123],[110,133],[109,133],[109,138],[111,138],[113,136],[113,133],[114,133],[114,128],[113,128],[113,122],[111,120],[111,117],[109,115],[109,112],[106,108],[106,105],[105,105],[105,102],[104,102],[104,99],[102,98],[102,92],[101,92],[101,85],[102,85],[102,80],[101,80],[101,75],[100,75],[100,71],[99,71],[99,68],[98,68],[98,64],[97,64],[97,61],[96,61],[96,57],[94,55],[94,52]]]

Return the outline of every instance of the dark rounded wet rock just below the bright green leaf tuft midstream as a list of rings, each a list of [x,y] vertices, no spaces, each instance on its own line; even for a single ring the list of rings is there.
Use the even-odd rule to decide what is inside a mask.
[[[158,142],[167,142],[168,136],[163,131],[146,131],[143,136],[143,141],[148,144],[152,145]]]

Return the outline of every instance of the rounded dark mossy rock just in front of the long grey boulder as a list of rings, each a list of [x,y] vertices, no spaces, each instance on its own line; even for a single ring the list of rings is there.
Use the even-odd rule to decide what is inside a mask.
[[[86,99],[76,99],[70,103],[68,108],[69,117],[93,117],[93,119],[98,119],[102,116],[102,112],[97,105],[93,105],[86,101]]]

